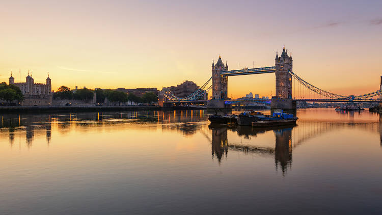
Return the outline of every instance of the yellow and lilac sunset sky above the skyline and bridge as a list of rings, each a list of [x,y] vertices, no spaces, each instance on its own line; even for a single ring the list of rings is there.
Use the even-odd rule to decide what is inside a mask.
[[[334,93],[379,89],[382,1],[3,1],[0,81],[11,71],[52,89],[174,86],[229,69],[274,66]],[[228,95],[275,92],[275,74],[229,77]]]

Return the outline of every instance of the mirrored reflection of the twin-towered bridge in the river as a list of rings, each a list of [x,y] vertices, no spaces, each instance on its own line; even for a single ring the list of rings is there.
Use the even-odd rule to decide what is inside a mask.
[[[379,132],[382,146],[382,124],[379,123],[352,123],[352,122],[320,122],[304,121],[297,126],[278,128],[253,128],[249,126],[226,127],[209,126],[212,130],[211,141],[212,157],[221,163],[223,156],[228,156],[228,150],[242,153],[252,153],[262,156],[275,156],[276,167],[280,166],[283,173],[292,164],[292,149],[306,143],[310,139],[320,137],[325,132],[335,131],[346,127],[357,127],[365,131]],[[236,131],[238,136],[257,136],[267,131],[275,133],[275,147],[263,146],[253,143],[230,142],[228,130]]]

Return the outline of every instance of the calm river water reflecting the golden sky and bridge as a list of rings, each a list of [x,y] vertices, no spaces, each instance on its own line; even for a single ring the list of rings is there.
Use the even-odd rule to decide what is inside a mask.
[[[0,116],[0,214],[382,213],[376,113],[273,129],[203,110]]]

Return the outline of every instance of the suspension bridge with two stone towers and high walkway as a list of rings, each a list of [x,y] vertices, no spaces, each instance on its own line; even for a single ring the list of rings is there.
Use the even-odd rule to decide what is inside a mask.
[[[209,107],[227,107],[236,102],[247,100],[228,98],[228,77],[237,75],[275,73],[276,94],[272,99],[251,99],[252,102],[268,102],[273,108],[295,109],[296,101],[316,101],[316,102],[382,102],[380,95],[382,88],[377,91],[363,95],[339,95],[322,90],[308,82],[297,74],[293,73],[292,55],[288,55],[283,48],[281,56],[276,53],[275,66],[260,68],[243,68],[238,70],[228,70],[228,64],[224,64],[219,56],[216,64],[212,62],[212,76],[204,85],[194,93],[179,98],[170,92],[159,94],[159,103],[164,106],[172,105],[205,105]],[[212,83],[210,83],[212,80]],[[294,82],[294,88],[292,83]],[[297,82],[297,83],[296,83]],[[382,86],[382,85],[381,85]],[[212,91],[211,100],[199,100],[206,93]],[[294,96],[292,97],[292,92]]]

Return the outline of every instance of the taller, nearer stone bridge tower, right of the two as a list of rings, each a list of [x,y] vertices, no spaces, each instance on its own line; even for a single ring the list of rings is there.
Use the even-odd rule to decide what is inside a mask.
[[[288,56],[288,52],[283,48],[283,52],[279,57],[276,53],[276,98],[291,99],[292,98],[292,72],[293,60],[292,56]]]

